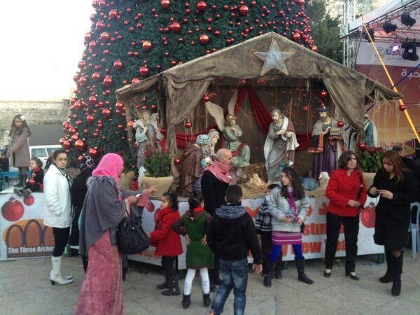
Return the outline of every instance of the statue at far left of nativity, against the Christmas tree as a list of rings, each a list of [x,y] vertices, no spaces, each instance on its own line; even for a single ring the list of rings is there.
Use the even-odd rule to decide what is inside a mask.
[[[140,118],[133,125],[136,128],[137,144],[137,168],[139,169],[139,181],[145,174],[144,153],[148,148],[160,149],[160,140],[163,136],[158,130],[157,114],[152,114],[150,110],[144,109],[140,112]]]

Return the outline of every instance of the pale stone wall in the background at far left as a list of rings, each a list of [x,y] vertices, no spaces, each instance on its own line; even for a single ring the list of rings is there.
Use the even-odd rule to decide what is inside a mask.
[[[16,114],[22,113],[25,116],[29,128],[34,125],[39,128],[41,125],[61,125],[66,120],[68,111],[69,99],[0,101],[0,148],[8,144],[8,132]]]

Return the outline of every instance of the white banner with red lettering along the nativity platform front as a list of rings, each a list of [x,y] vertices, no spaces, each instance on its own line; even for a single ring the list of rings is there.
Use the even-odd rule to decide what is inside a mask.
[[[258,207],[264,201],[263,198],[246,199],[242,201],[248,214],[255,220]],[[158,209],[159,202],[153,200],[155,209]],[[323,258],[325,252],[326,241],[326,214],[329,200],[326,197],[309,197],[310,207],[307,221],[305,222],[305,229],[303,235],[303,254],[306,259]],[[374,207],[377,204],[376,200],[370,199],[365,204],[365,208],[360,214],[360,228],[358,234],[358,255],[367,255],[375,253],[384,253],[383,246],[374,244]],[[188,202],[179,202],[179,211],[182,214],[188,210]],[[153,210],[152,210],[153,211]],[[143,213],[143,227],[146,232],[152,232],[155,228],[154,211],[149,212],[144,210]],[[181,237],[183,244],[183,254],[178,258],[179,269],[186,268],[186,243],[185,238]],[[346,242],[344,241],[344,230],[340,230],[339,241],[337,244],[337,257],[346,255]],[[155,248],[150,246],[143,253],[138,255],[129,255],[132,260],[151,263],[153,265],[160,265],[160,256],[155,255]],[[283,246],[283,260],[294,260],[292,246]],[[252,262],[252,258],[248,259]]]

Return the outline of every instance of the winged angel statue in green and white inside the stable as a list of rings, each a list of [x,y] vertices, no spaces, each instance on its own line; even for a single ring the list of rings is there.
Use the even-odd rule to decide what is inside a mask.
[[[238,167],[247,167],[249,165],[250,155],[249,146],[242,144],[241,141],[239,141],[239,137],[242,136],[243,132],[239,125],[237,125],[236,117],[233,115],[236,98],[237,91],[235,91],[234,96],[230,99],[228,105],[228,116],[226,116],[225,120],[223,119],[223,109],[221,106],[207,102],[206,108],[210,115],[216,120],[218,129],[223,131],[225,148],[232,151],[232,164]]]

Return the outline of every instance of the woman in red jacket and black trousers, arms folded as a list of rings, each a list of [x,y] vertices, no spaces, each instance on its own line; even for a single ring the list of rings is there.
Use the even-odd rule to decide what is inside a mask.
[[[346,276],[356,276],[357,236],[360,209],[366,202],[366,187],[359,169],[358,155],[345,151],[338,160],[339,169],[331,174],[325,196],[330,200],[327,212],[327,243],[325,244],[325,278],[330,277],[337,250],[341,225],[346,241]]]

